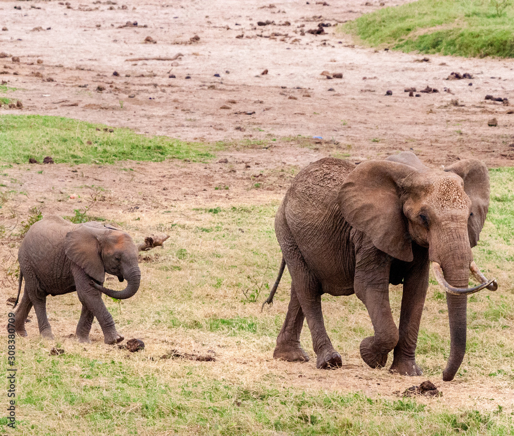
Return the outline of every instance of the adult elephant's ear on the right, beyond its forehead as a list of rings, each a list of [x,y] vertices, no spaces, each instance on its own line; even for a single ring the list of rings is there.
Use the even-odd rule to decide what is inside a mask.
[[[471,214],[468,218],[468,236],[471,247],[479,242],[480,232],[489,209],[489,172],[484,162],[464,159],[445,168],[464,180],[464,191],[471,199]]]

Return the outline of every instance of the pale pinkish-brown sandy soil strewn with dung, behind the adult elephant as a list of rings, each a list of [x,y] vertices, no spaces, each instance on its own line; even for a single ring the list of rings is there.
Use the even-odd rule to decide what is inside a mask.
[[[418,62],[424,56],[355,47],[334,27],[378,2],[67,3],[0,2],[0,26],[8,29],[0,32],[0,51],[8,54],[0,78],[23,89],[14,94],[24,104],[16,113],[191,140],[277,138],[276,148],[288,155],[281,138],[303,135],[337,142],[356,160],[409,149],[438,164],[475,156],[501,166],[514,157],[513,108],[484,100],[489,94],[514,102],[512,63],[440,56]],[[128,21],[138,27],[120,28]],[[331,25],[325,34],[305,33],[319,23]],[[130,61],[153,57],[177,58]],[[323,71],[343,78],[327,80]],[[473,79],[446,80],[452,71]],[[426,86],[439,92],[404,92]],[[498,126],[489,127],[493,117]]]

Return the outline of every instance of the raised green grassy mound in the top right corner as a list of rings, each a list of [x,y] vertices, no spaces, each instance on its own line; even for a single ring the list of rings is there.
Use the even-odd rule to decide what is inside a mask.
[[[514,57],[510,0],[419,0],[364,14],[342,29],[370,46],[466,57]]]

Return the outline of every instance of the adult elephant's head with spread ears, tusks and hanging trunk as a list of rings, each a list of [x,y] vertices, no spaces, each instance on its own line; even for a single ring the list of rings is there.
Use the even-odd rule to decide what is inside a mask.
[[[339,205],[348,223],[396,259],[411,262],[413,242],[428,248],[447,294],[451,345],[443,379],[452,380],[466,350],[466,295],[497,288],[481,275],[471,252],[489,205],[487,167],[466,159],[434,170],[413,153],[363,162],[346,178]],[[482,285],[467,288],[470,270]]]

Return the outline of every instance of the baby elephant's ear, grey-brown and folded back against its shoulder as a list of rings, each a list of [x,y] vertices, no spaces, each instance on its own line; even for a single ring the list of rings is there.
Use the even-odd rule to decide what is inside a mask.
[[[80,226],[66,234],[65,253],[86,274],[99,283],[105,279],[98,238],[104,231],[90,226]]]

